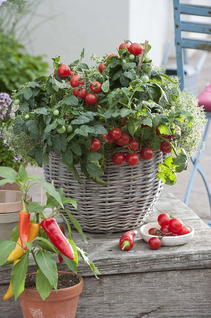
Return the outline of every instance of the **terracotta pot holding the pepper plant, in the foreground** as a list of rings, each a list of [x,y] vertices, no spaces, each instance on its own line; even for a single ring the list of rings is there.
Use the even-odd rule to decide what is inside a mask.
[[[58,271],[58,274],[73,273]],[[32,273],[35,274],[35,273]],[[83,279],[75,286],[58,289],[49,294],[43,301],[37,290],[25,288],[19,296],[24,318],[74,318],[79,295],[83,289]]]

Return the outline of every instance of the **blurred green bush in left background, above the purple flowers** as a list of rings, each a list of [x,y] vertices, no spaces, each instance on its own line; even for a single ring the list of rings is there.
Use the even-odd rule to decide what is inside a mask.
[[[17,86],[46,73],[48,64],[42,56],[33,57],[24,52],[24,46],[0,30],[0,91],[12,93]]]

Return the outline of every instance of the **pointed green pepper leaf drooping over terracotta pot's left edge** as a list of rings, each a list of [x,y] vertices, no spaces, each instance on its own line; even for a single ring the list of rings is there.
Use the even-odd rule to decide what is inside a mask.
[[[24,290],[27,268],[29,266],[29,253],[23,254],[22,259],[16,263],[11,272],[12,291],[15,300]]]

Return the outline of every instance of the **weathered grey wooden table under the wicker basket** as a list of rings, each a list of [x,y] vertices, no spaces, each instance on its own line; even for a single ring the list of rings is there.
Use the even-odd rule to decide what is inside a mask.
[[[86,232],[86,245],[73,231],[76,245],[89,253],[101,272],[100,280],[96,280],[80,260],[78,273],[84,278],[84,288],[76,318],[211,317],[211,228],[171,194],[161,195],[147,221],[156,221],[162,212],[195,228],[191,242],[153,251],[138,233],[134,248],[122,252],[118,246],[120,233]],[[0,269],[1,299],[9,285],[10,267]],[[58,268],[68,270],[64,263]],[[32,263],[29,272],[35,270]],[[1,301],[0,308],[4,318],[23,317],[14,298]]]

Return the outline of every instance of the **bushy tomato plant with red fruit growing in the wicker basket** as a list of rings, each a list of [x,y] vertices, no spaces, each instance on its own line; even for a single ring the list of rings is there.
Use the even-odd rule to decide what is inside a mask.
[[[138,147],[142,149],[141,160],[150,160],[151,149],[160,149],[172,152],[173,156],[159,164],[157,177],[169,185],[175,184],[176,172],[187,169],[185,149],[189,148],[189,153],[194,151],[203,130],[204,115],[200,109],[193,116],[197,100],[188,93],[179,93],[177,79],[154,67],[148,54],[150,48],[148,45],[141,64],[144,54],[139,44],[138,55],[123,47],[118,55],[106,55],[103,60],[92,56],[97,65],[90,68],[82,63],[83,49],[80,59],[68,66],[56,57],[53,74],[19,86],[13,94],[13,99],[20,103],[13,132],[25,133],[38,142],[28,155],[42,167],[43,162],[49,163],[48,153],[54,151],[62,156],[68,172],[79,183],[75,168],[78,163],[89,180],[103,185],[100,176],[109,157],[108,150],[116,156],[121,149],[128,150],[122,162],[116,164],[126,159],[134,165],[140,160],[134,153]],[[185,101],[189,109],[181,105]],[[11,121],[7,127],[10,125]],[[198,136],[193,130],[196,126]],[[191,142],[186,147],[188,136],[192,136],[192,149]],[[136,149],[130,146],[133,139],[138,143]]]

